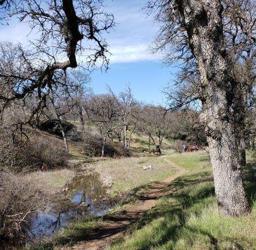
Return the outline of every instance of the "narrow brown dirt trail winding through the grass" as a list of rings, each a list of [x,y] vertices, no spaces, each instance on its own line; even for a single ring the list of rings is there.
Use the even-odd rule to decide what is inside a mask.
[[[151,209],[155,206],[157,199],[165,195],[165,189],[168,184],[174,179],[178,178],[186,172],[184,168],[177,166],[176,164],[169,161],[168,156],[163,156],[164,161],[168,162],[175,169],[178,169],[178,173],[169,176],[169,178],[164,179],[160,183],[152,184],[147,189],[143,196],[139,196],[139,202],[136,204],[130,204],[125,210],[115,212],[107,216],[107,223],[100,227],[99,231],[90,236],[82,242],[78,242],[72,247],[61,247],[61,250],[99,250],[105,249],[110,242],[114,239],[119,239],[124,235],[125,229],[131,226],[132,222],[139,219],[143,212]]]

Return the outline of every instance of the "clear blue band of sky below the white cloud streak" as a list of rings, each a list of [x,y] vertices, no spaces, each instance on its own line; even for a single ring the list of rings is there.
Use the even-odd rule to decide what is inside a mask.
[[[91,86],[95,94],[100,94],[106,92],[106,84],[115,93],[123,91],[129,84],[137,100],[164,105],[161,91],[173,79],[170,71],[157,61],[114,63],[107,73],[94,71]]]

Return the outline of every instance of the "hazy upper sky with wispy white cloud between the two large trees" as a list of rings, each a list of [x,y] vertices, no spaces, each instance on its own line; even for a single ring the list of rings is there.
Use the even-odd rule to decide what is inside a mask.
[[[149,49],[158,26],[152,16],[146,16],[142,11],[147,1],[107,0],[106,2],[117,22],[114,32],[110,32],[107,37],[112,53],[110,64],[161,59],[160,54],[154,54]]]

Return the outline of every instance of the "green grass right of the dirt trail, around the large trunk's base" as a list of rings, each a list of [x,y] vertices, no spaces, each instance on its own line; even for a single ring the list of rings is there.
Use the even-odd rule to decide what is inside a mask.
[[[251,214],[221,216],[216,207],[208,154],[174,154],[170,159],[188,172],[173,181],[168,187],[169,196],[160,199],[108,250],[256,249],[255,196],[251,197]],[[255,194],[253,180],[247,179],[247,193]]]

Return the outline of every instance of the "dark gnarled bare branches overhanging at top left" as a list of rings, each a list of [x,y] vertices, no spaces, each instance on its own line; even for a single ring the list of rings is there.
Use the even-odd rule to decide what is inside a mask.
[[[107,68],[107,42],[102,35],[114,26],[114,17],[104,12],[101,0],[25,0],[0,4],[2,22],[17,17],[20,22],[28,22],[35,36],[26,49],[14,46],[15,60],[1,67],[1,113],[14,100],[24,104],[33,96],[36,101],[30,116],[33,118],[45,107],[46,96],[59,75],[68,68],[77,68],[78,55],[85,69],[92,69],[97,62]],[[1,54],[1,64],[5,65],[11,45],[3,46],[6,48],[5,54]],[[7,86],[8,94],[4,92]]]

